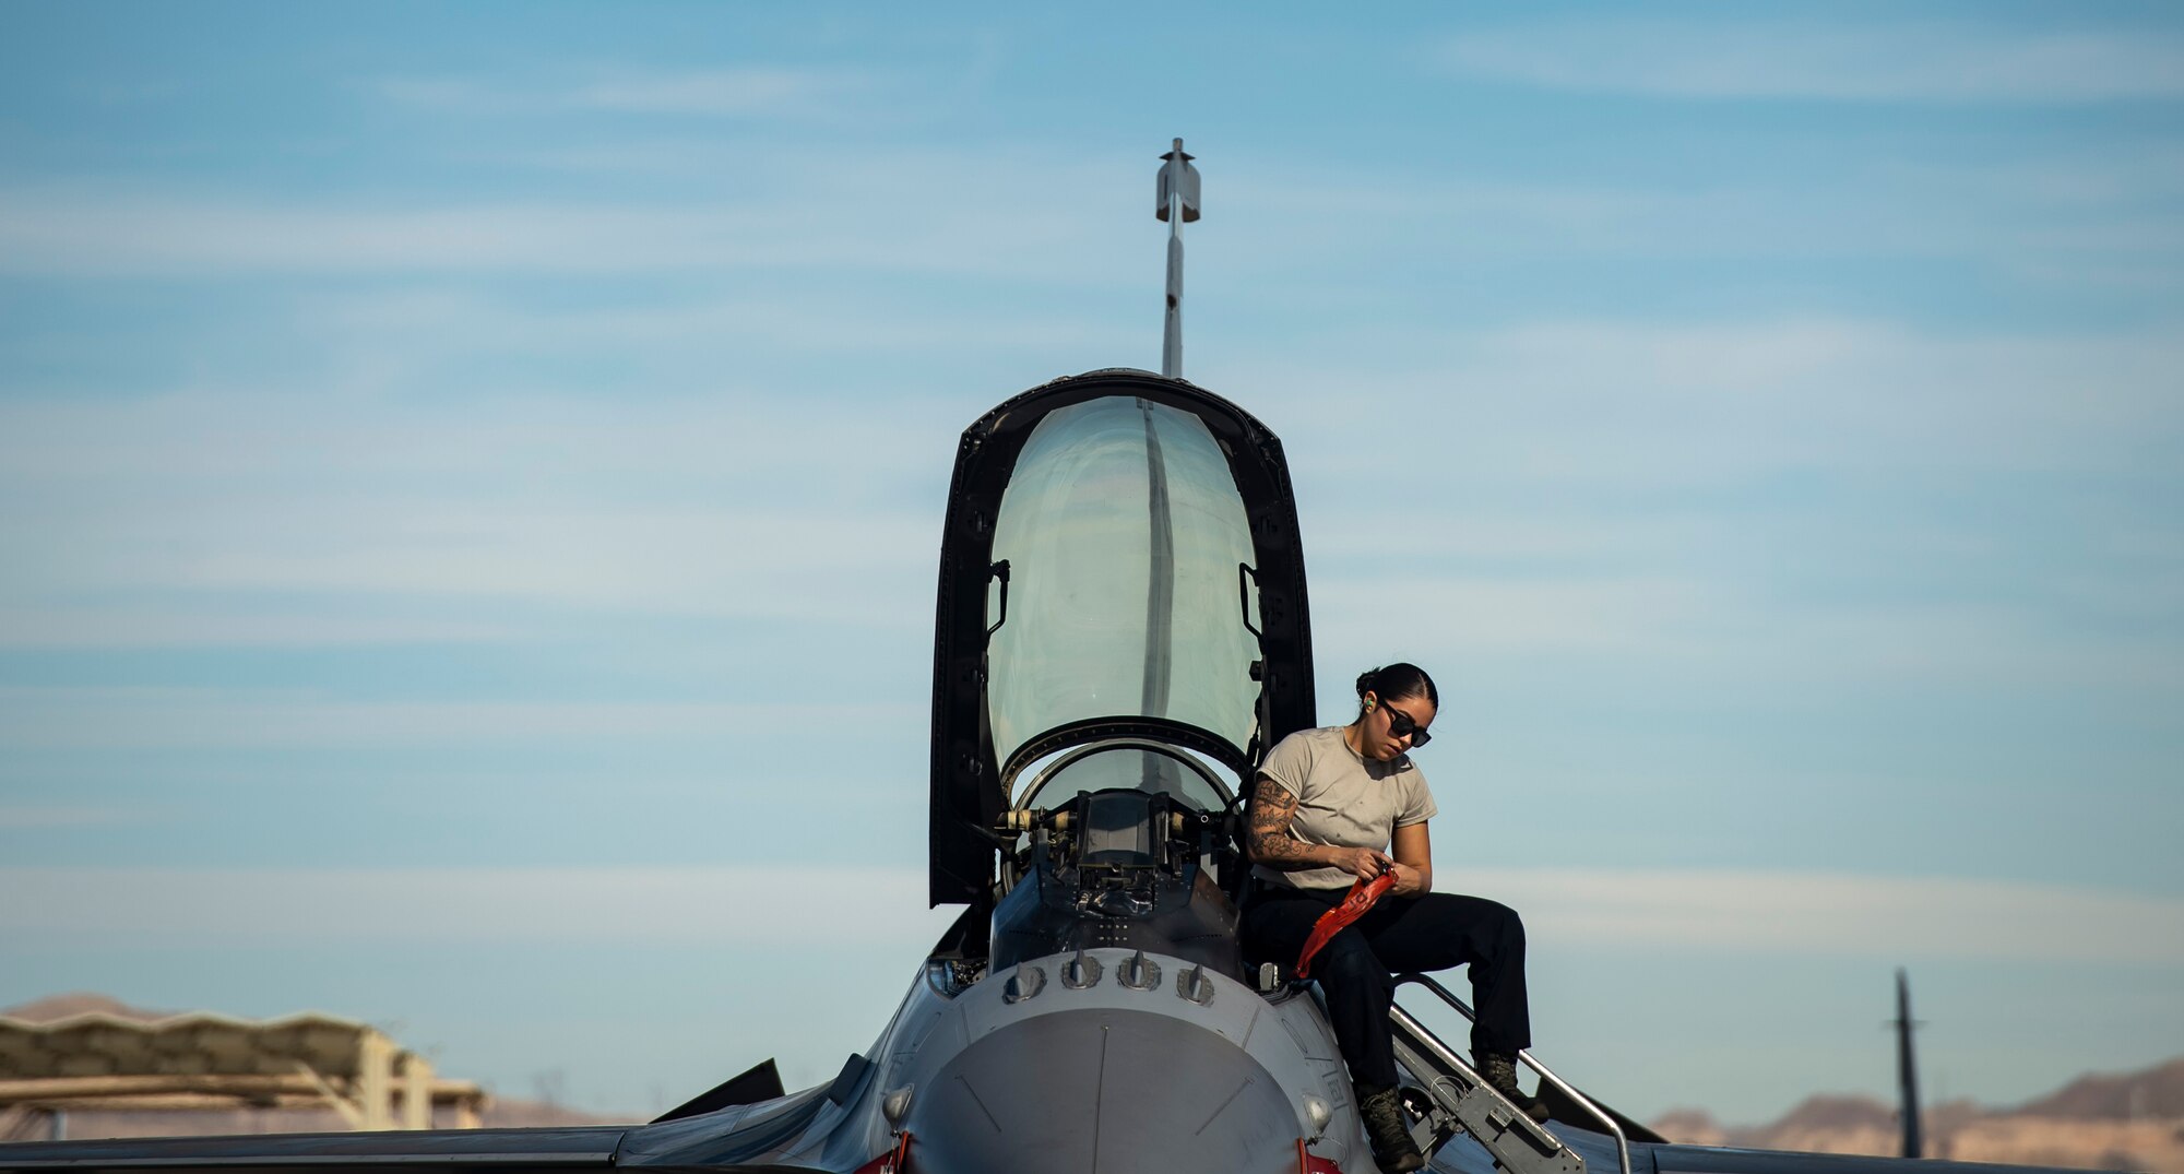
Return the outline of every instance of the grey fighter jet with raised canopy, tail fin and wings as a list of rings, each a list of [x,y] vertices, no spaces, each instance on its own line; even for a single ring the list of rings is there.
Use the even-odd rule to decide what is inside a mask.
[[[13,1143],[0,1170],[1372,1174],[1315,986],[1236,934],[1241,796],[1317,716],[1310,609],[1280,439],[1179,371],[1179,229],[1201,214],[1182,140],[1158,196],[1162,373],[1035,386],[957,445],[928,897],[961,917],[834,1080],[786,1093],[767,1061],[642,1126]],[[1468,1015],[1426,975],[1398,1002]],[[1553,1109],[1535,1124],[1404,1006],[1393,1037],[1444,1174],[1909,1170],[1671,1146],[1527,1054]]]

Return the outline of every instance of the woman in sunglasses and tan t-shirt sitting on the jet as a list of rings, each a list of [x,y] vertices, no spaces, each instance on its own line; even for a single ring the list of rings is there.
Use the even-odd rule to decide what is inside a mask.
[[[1533,1117],[1544,1117],[1544,1106],[1516,1085],[1516,1052],[1531,1045],[1524,925],[1507,906],[1433,893],[1426,820],[1437,807],[1409,751],[1431,740],[1439,692],[1411,663],[1369,670],[1356,687],[1354,722],[1291,733],[1258,770],[1245,836],[1256,868],[1243,938],[1262,958],[1293,962],[1313,923],[1341,903],[1352,882],[1396,875],[1380,903],[1321,947],[1313,978],[1350,1065],[1374,1161],[1400,1172],[1426,1159],[1396,1102],[1387,1019],[1393,971],[1470,965],[1479,1074]]]

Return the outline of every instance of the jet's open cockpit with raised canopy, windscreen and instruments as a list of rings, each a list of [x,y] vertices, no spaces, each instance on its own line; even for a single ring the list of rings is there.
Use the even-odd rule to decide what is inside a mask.
[[[1313,720],[1308,648],[1289,474],[1243,410],[1096,371],[965,430],[930,890],[989,914],[968,951],[1158,945],[1234,973],[1238,792]]]

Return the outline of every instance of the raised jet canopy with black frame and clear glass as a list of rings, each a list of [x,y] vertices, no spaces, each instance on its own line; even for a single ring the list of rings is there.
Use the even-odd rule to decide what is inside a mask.
[[[1265,426],[1182,380],[1094,371],[963,432],[935,631],[935,903],[987,897],[981,829],[1033,762],[1136,738],[1245,777],[1310,720],[1297,517]]]

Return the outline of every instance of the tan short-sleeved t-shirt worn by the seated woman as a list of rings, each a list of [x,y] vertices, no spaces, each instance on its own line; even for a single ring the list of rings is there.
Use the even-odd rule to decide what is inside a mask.
[[[1289,834],[1306,844],[1341,849],[1387,849],[1398,827],[1426,823],[1439,807],[1426,788],[1426,772],[1411,755],[1393,762],[1367,759],[1343,742],[1350,727],[1299,729],[1273,744],[1258,772],[1297,796]],[[1251,875],[1293,888],[1350,888],[1356,877],[1341,868],[1282,871],[1254,864]]]

